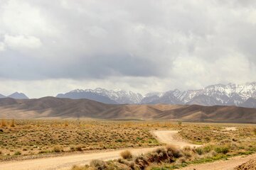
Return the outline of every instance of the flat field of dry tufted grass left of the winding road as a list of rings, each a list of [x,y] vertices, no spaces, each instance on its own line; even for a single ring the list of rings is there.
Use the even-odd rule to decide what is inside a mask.
[[[150,132],[159,126],[156,123],[3,119],[2,124],[0,160],[13,159],[12,155],[17,149],[21,150],[23,156],[159,145]],[[61,149],[56,149],[58,147]]]

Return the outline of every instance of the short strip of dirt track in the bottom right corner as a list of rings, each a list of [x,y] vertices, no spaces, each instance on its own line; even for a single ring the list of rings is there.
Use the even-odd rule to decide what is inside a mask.
[[[256,154],[247,157],[233,157],[226,161],[211,162],[207,164],[191,165],[181,170],[233,170],[236,166],[243,164],[250,159],[256,159]]]

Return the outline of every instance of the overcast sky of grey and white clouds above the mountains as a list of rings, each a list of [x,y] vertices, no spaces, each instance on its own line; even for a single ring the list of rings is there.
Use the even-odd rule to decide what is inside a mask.
[[[256,81],[255,0],[0,0],[0,94]]]

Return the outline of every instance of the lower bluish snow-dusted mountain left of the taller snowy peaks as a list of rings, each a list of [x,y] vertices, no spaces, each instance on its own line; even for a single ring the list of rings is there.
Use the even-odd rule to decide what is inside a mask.
[[[124,103],[140,103],[142,101],[142,94],[135,94],[132,91],[124,91],[121,89],[106,90],[102,88],[97,89],[76,89],[66,94],[58,94],[58,98],[87,98],[102,103],[124,104]]]

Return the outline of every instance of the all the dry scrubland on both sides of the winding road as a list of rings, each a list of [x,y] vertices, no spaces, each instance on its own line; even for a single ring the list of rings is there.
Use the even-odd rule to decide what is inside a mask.
[[[122,159],[73,169],[175,169],[256,152],[256,126],[111,120],[1,120],[0,160],[52,157],[59,154],[127,148]],[[235,127],[235,128],[228,128]],[[179,138],[202,145],[176,149],[159,143],[151,131],[180,130]],[[155,147],[133,156],[132,147]]]

